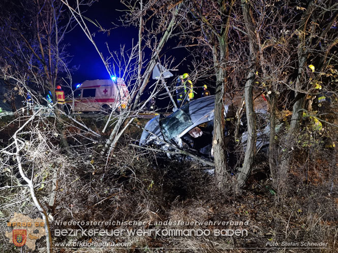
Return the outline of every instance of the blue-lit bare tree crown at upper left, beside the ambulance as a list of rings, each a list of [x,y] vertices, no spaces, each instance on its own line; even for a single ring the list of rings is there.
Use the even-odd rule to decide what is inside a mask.
[[[2,19],[2,77],[25,74],[32,91],[36,94],[51,91],[56,101],[59,74],[68,63],[63,39],[72,19],[58,1],[36,0],[24,4],[3,1],[2,5],[2,10],[11,12],[11,15],[4,13]]]

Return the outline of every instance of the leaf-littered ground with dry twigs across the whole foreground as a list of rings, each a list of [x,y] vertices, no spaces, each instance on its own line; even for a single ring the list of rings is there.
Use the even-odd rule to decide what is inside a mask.
[[[220,190],[205,172],[210,167],[129,146],[146,121],[136,121],[108,159],[96,152],[100,141],[88,148],[83,139],[82,155],[61,152],[63,163],[51,164],[57,174],[53,205],[48,204],[52,181],[38,197],[50,213],[55,252],[336,252],[336,177],[323,156],[309,170],[295,158],[299,164],[290,168],[283,194],[272,187],[264,156],[257,157],[245,188],[238,189],[229,173],[227,188]],[[104,126],[99,120],[83,122],[98,132]],[[11,129],[2,131],[3,143]],[[57,234],[93,229],[110,234]],[[37,248],[44,246],[44,238],[37,241]]]

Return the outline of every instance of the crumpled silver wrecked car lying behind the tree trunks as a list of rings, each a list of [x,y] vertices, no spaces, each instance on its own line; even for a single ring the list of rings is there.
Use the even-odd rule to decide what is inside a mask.
[[[212,160],[214,100],[214,95],[202,97],[183,105],[168,117],[163,114],[156,116],[145,125],[139,145],[141,147],[156,146],[163,151],[174,151],[176,147],[176,150],[177,148],[187,150],[204,159]],[[225,119],[230,119],[236,114],[241,103],[241,95],[230,96],[228,94],[226,101],[228,102],[224,104]],[[256,95],[254,108],[256,114],[259,115],[258,118],[266,119],[267,103],[261,94]],[[244,130],[245,114],[242,118],[241,129]],[[268,133],[268,124],[263,124],[258,129],[257,148],[268,144]],[[227,129],[225,129],[225,136],[231,137]],[[247,132],[241,132],[241,143],[247,141],[247,136]]]

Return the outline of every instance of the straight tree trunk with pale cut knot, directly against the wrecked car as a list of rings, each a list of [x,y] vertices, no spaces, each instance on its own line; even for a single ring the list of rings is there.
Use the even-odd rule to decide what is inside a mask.
[[[216,97],[214,111],[213,156],[216,166],[216,180],[220,189],[227,183],[227,155],[225,144],[224,104],[228,85],[229,61],[229,30],[231,15],[235,1],[192,1],[185,9],[187,12],[189,31],[185,37],[188,41],[196,40],[199,49],[203,48],[205,54],[211,59],[206,59],[213,64],[213,75],[216,76]],[[193,22],[194,25],[189,24]],[[195,52],[192,52],[194,54]],[[198,51],[196,52],[198,53]],[[202,57],[200,55],[200,57]],[[204,62],[206,63],[206,62]],[[205,65],[203,65],[205,71]]]

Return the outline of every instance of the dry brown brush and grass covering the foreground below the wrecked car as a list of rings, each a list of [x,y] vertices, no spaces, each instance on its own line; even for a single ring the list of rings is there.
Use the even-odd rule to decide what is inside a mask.
[[[5,120],[3,118],[3,120]],[[6,121],[9,121],[7,118]],[[65,119],[68,122],[67,119]],[[87,126],[96,126],[99,132],[105,119],[83,119]],[[104,229],[166,229],[168,226],[153,225],[159,221],[219,222],[248,221],[247,226],[197,225],[170,226],[170,229],[247,229],[248,236],[114,236],[117,242],[130,242],[131,248],[121,252],[224,252],[224,248],[261,248],[267,242],[327,242],[324,251],[333,252],[337,247],[336,151],[317,150],[311,157],[306,148],[299,147],[290,170],[289,190],[277,194],[269,179],[269,166],[256,160],[247,187],[237,189],[235,176],[228,176],[228,187],[220,191],[213,176],[203,172],[206,167],[192,161],[177,162],[165,156],[142,151],[128,144],[140,135],[139,126],[146,121],[136,121],[120,140],[116,152],[107,160],[96,151],[98,143],[88,141],[89,134],[79,128],[67,128],[69,143],[74,146],[73,155],[63,149],[53,153],[43,152],[39,162],[44,166],[36,175],[37,195],[48,210],[52,232],[55,229],[90,229],[95,226],[61,226],[56,221],[140,221],[141,226],[101,226]],[[51,119],[45,126],[52,125]],[[6,141],[18,122],[2,130]],[[92,125],[91,125],[92,124]],[[330,129],[332,130],[332,129]],[[82,136],[82,137],[81,137]],[[72,139],[81,142],[75,147]],[[53,139],[50,139],[52,143]],[[41,148],[41,147],[40,147]],[[75,152],[76,150],[76,152]],[[309,164],[310,163],[310,164]],[[15,173],[15,170],[13,170]],[[55,176],[56,174],[56,176]],[[6,173],[2,174],[2,177]],[[2,178],[5,179],[5,178]],[[5,182],[5,180],[2,180]],[[54,187],[53,187],[54,185]],[[0,198],[2,221],[12,210],[32,217],[39,216],[27,200],[27,192],[15,188],[4,190]],[[10,196],[12,201],[8,201]],[[52,197],[51,197],[52,196]],[[152,225],[149,226],[149,223]],[[107,237],[53,237],[55,242],[106,241]],[[17,252],[13,244],[1,237],[4,252]],[[44,247],[45,240],[37,242]],[[168,249],[175,247],[177,249]],[[271,247],[271,246],[268,246]],[[154,249],[158,248],[158,249]],[[179,249],[181,248],[181,249]],[[184,249],[183,249],[184,248]],[[189,248],[189,249],[188,249]],[[98,252],[98,249],[55,249],[59,252]],[[100,249],[102,252],[112,249]],[[251,252],[262,249],[233,249]],[[116,251],[116,249],[114,250]],[[264,249],[263,249],[264,251]],[[265,249],[265,251],[271,251]],[[273,249],[272,251],[283,251]],[[293,251],[302,251],[294,249]],[[313,251],[313,250],[311,250]],[[28,252],[28,251],[26,251]]]

